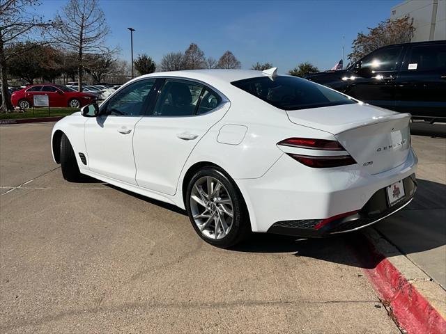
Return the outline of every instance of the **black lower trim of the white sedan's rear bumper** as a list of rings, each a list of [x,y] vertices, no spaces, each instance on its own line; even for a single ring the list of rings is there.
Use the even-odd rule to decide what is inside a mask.
[[[383,188],[376,191],[374,196],[371,196],[369,201],[357,213],[335,219],[321,228],[317,228],[321,219],[278,221],[268,229],[268,232],[295,237],[328,237],[330,234],[360,230],[378,221],[382,221],[388,216],[392,216],[392,214],[403,209],[403,207],[406,207],[413,200],[415,191],[417,191],[415,174],[406,177],[403,180],[403,184],[406,196],[401,198],[395,205],[389,205],[386,189]]]

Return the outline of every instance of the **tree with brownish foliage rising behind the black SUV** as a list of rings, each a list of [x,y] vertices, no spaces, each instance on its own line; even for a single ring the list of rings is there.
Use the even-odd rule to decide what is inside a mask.
[[[415,27],[413,19],[401,17],[400,19],[386,19],[376,28],[368,28],[369,33],[358,33],[353,40],[352,53],[348,54],[351,63],[363,56],[386,45],[408,43],[413,38]]]

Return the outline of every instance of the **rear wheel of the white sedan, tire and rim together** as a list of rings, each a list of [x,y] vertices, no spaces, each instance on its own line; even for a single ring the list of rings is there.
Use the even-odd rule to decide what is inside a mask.
[[[251,232],[243,196],[219,168],[200,169],[187,186],[185,202],[194,230],[208,244],[228,248]]]

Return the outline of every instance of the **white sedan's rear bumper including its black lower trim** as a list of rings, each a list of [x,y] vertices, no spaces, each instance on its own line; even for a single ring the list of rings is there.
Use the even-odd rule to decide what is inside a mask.
[[[358,164],[339,168],[309,168],[284,154],[262,177],[238,179],[236,183],[245,198],[253,232],[284,233],[288,231],[283,229],[287,227],[286,223],[279,222],[302,221],[303,225],[298,227],[302,228],[298,231],[302,233],[296,234],[294,231],[292,235],[323,237],[337,231],[329,231],[328,227],[316,232],[310,230],[320,223],[321,219],[343,215],[346,212],[361,212],[369,203],[379,198],[380,192],[386,186],[408,177],[413,180],[411,175],[416,173],[416,169],[417,157],[412,150],[403,164],[375,175],[371,175]],[[405,200],[410,200],[409,197],[413,197],[413,194],[406,193]],[[380,198],[385,200],[382,196]],[[367,225],[392,214],[402,205],[404,203],[397,203],[389,212],[380,207],[377,212],[379,215],[376,216],[364,216],[362,211],[362,216],[343,217],[351,218],[352,221],[361,218],[362,222],[357,223],[361,226]],[[368,212],[374,210],[369,209]],[[371,220],[366,222],[366,218]],[[330,222],[330,228],[333,228],[333,223],[334,221]],[[355,229],[355,226],[344,227],[344,230]]]

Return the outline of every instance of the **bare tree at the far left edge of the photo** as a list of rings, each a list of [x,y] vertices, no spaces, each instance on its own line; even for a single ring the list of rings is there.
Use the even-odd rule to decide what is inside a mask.
[[[13,110],[8,93],[8,55],[6,47],[13,43],[30,39],[36,29],[51,26],[43,18],[32,13],[31,10],[39,6],[36,0],[1,0],[0,1],[0,81],[1,81],[1,111]],[[34,36],[36,37],[36,36]],[[33,44],[35,45],[35,44]]]

